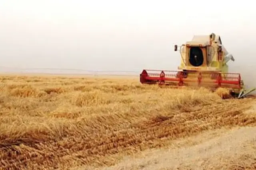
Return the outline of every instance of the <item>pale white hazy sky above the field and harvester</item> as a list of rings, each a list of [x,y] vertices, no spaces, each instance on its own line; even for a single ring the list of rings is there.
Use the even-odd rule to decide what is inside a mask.
[[[0,0],[0,66],[175,69],[174,44],[214,32],[256,65],[253,1]]]

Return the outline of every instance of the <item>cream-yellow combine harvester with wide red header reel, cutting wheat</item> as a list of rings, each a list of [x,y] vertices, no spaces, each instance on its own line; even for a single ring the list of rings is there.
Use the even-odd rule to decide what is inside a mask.
[[[174,45],[174,51],[178,51],[178,45]],[[241,75],[228,72],[227,63],[234,61],[234,57],[226,51],[219,35],[195,35],[192,41],[181,45],[179,51],[181,63],[178,71],[143,70],[140,82],[176,88],[202,86],[212,91],[226,88],[236,98],[246,97],[256,90],[245,90]]]

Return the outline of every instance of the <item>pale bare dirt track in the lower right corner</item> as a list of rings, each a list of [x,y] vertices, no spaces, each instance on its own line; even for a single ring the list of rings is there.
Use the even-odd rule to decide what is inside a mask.
[[[102,170],[255,169],[255,133],[255,127],[204,132],[186,139],[189,143],[177,140],[176,147],[148,151],[143,158],[126,158]]]

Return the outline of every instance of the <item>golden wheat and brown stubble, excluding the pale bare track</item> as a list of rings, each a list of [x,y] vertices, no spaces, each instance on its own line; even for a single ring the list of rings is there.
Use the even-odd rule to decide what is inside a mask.
[[[243,113],[253,98],[220,96],[138,78],[1,76],[0,168],[110,166],[209,129],[255,125]]]

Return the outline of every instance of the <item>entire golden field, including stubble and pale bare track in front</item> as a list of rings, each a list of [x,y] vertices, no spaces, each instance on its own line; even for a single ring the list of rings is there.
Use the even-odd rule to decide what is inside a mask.
[[[1,75],[1,169],[255,169],[256,99],[139,78]]]

